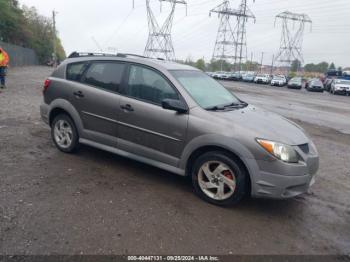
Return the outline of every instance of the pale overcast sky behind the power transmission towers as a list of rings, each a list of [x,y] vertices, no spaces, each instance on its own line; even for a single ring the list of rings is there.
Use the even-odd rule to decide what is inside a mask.
[[[55,9],[57,30],[63,46],[72,51],[98,51],[93,38],[104,50],[111,47],[118,52],[142,54],[148,36],[145,0],[20,0],[34,6],[39,13],[51,16]],[[154,13],[161,24],[169,10],[158,0],[152,0]],[[209,17],[209,10],[222,0],[188,0],[188,13],[178,5],[174,18],[173,42],[176,57],[192,59],[212,56],[219,19]],[[231,0],[237,8],[240,0]],[[336,66],[350,66],[350,0],[248,0],[257,21],[247,27],[248,53],[269,64],[278,52],[281,24],[274,27],[275,16],[289,10],[306,13],[313,20],[312,32],[306,27],[303,44],[305,63],[334,62]]]

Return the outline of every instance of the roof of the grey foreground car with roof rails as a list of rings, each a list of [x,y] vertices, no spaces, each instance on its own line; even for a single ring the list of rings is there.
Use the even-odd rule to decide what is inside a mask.
[[[147,57],[138,57],[138,56],[116,56],[116,55],[100,55],[100,56],[79,56],[67,58],[63,63],[77,63],[77,62],[85,62],[85,61],[122,61],[122,62],[130,62],[143,64],[147,66],[151,66],[157,69],[165,69],[165,70],[196,70],[200,71],[197,68],[194,68],[189,65],[183,65],[180,63],[176,63],[173,61],[166,61],[163,59],[156,58],[147,58]]]

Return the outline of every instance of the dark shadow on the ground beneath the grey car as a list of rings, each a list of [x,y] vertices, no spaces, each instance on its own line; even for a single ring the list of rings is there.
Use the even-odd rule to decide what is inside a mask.
[[[136,179],[141,179],[147,184],[153,184],[154,186],[161,185],[163,187],[169,187],[169,192],[177,190],[181,191],[180,194],[186,193],[190,195],[193,193],[192,183],[190,178],[179,176],[165,170],[143,164],[141,162],[131,160],[122,156],[118,156],[106,151],[102,151],[89,146],[81,146],[77,152],[76,157],[98,162],[101,165],[109,166],[112,170],[119,172],[122,168],[127,173],[127,176],[132,175]],[[130,173],[130,174],[129,174]],[[111,178],[113,179],[113,178]],[[180,200],[181,201],[181,200]],[[184,201],[184,200],[183,200]],[[188,206],[199,205],[207,207],[216,207],[212,204],[206,203],[198,197],[193,197],[191,201],[196,203],[187,202]],[[233,207],[217,207],[226,211],[232,212],[244,212],[244,213],[261,213],[261,215],[268,214],[269,216],[283,216],[290,211],[300,211],[303,207],[303,200],[298,201],[297,198],[276,200],[276,199],[258,199],[246,196],[239,204]],[[186,203],[182,203],[186,205]]]

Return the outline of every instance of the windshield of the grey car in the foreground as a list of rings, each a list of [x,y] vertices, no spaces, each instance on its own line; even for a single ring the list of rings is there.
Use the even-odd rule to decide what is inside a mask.
[[[211,109],[242,103],[224,86],[201,71],[170,72],[202,108]]]

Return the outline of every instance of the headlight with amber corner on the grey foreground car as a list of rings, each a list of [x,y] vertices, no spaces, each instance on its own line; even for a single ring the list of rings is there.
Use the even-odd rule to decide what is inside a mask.
[[[299,157],[295,149],[289,145],[264,139],[256,140],[267,152],[287,163],[298,163]]]

